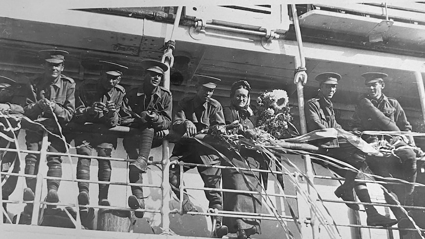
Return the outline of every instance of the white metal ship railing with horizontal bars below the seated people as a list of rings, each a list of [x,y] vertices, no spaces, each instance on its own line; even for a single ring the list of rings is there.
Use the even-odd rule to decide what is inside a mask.
[[[122,132],[122,131],[121,131]],[[113,130],[110,133],[114,133]],[[42,144],[48,144],[48,134],[45,133],[43,136],[43,141]],[[168,149],[167,149],[168,150]],[[79,158],[90,158],[90,159],[107,159],[107,160],[112,160],[112,161],[121,161],[121,162],[131,162],[132,160],[129,159],[124,159],[124,158],[114,158],[114,157],[100,157],[100,156],[88,156],[88,155],[79,155],[79,154],[68,154],[68,153],[54,153],[54,152],[47,152],[47,147],[41,147],[40,151],[32,151],[32,150],[17,150],[17,149],[12,149],[12,148],[0,148],[0,152],[3,151],[11,151],[11,152],[18,152],[18,153],[37,153],[40,154],[40,156],[44,156],[44,158],[41,158],[41,160],[45,160],[45,156],[47,155],[58,155],[58,156],[70,156],[70,157],[79,157]],[[163,154],[163,158],[162,161],[160,163],[151,163],[151,164],[161,164],[162,165],[162,172],[166,175],[168,175],[168,169],[169,169],[169,152],[166,152],[165,154]],[[314,204],[316,204],[317,202],[319,202],[319,198],[317,195],[317,191],[312,190],[311,187],[314,187],[314,178],[318,178],[318,179],[326,179],[326,180],[344,180],[344,178],[342,177],[332,177],[332,176],[323,176],[323,175],[315,175],[313,168],[312,168],[312,161],[311,161],[311,155],[309,153],[306,153],[305,155],[302,156],[302,158],[304,159],[304,163],[305,163],[305,174],[304,176],[307,177],[307,179],[309,181],[312,182],[312,184],[310,185],[310,189],[307,190],[307,194],[312,200],[312,202]],[[40,160],[40,161],[41,161]],[[42,161],[41,161],[42,162]],[[266,192],[254,192],[254,191],[244,191],[244,190],[231,190],[231,189],[222,189],[222,188],[206,188],[206,187],[186,187],[184,185],[183,179],[184,179],[184,173],[183,173],[183,167],[185,165],[187,166],[196,166],[196,167],[212,167],[212,168],[218,168],[218,169],[222,169],[222,170],[226,170],[226,169],[238,169],[241,171],[258,171],[258,172],[267,172],[267,173],[274,173],[274,174],[282,174],[285,176],[291,176],[291,177],[298,177],[300,176],[297,173],[285,173],[283,171],[278,171],[278,170],[260,170],[260,169],[248,169],[248,168],[237,168],[237,167],[229,167],[229,166],[216,166],[216,165],[204,165],[204,164],[192,164],[192,163],[184,163],[184,162],[172,162],[172,164],[177,164],[179,166],[179,170],[180,170],[180,192],[183,193],[183,191],[185,189],[189,189],[189,190],[202,190],[202,191],[219,191],[219,192],[234,192],[234,193],[244,193],[244,194],[249,194],[249,195],[258,195],[258,194],[267,194],[268,197],[276,197],[276,198],[284,198],[284,199],[294,199],[297,203],[297,207],[300,208],[300,206],[305,206],[305,204],[302,204],[302,200],[300,199],[300,196],[295,194],[295,195],[286,195],[283,193],[266,193]],[[40,163],[39,167],[45,167],[45,164]],[[152,212],[152,213],[161,213],[161,228],[165,229],[165,230],[169,230],[170,228],[170,221],[169,221],[169,214],[190,214],[190,215],[198,215],[198,216],[211,216],[211,217],[215,217],[215,216],[224,216],[224,217],[244,217],[244,218],[252,218],[252,219],[262,219],[262,220],[280,220],[280,221],[284,221],[284,222],[295,222],[299,225],[308,225],[308,224],[314,224],[314,223],[318,223],[317,219],[316,219],[316,215],[315,212],[313,210],[310,211],[309,215],[299,215],[296,216],[295,218],[291,215],[281,215],[278,214],[278,216],[276,216],[276,214],[274,213],[269,213],[269,214],[265,214],[265,213],[249,213],[249,212],[233,212],[233,211],[224,211],[224,210],[215,210],[215,211],[207,211],[207,212],[183,212],[182,209],[182,201],[183,201],[183,197],[182,195],[180,195],[180,200],[179,200],[179,208],[176,208],[174,210],[170,211],[169,208],[169,204],[168,202],[170,201],[170,197],[169,197],[169,191],[164,193],[164,188],[168,188],[169,190],[169,180],[168,180],[168,176],[165,178],[165,180],[161,181],[160,185],[154,185],[154,184],[136,184],[136,183],[127,183],[127,182],[118,182],[118,181],[98,181],[98,180],[83,180],[83,179],[69,179],[69,178],[57,178],[57,177],[49,177],[49,176],[43,176],[41,173],[38,173],[37,175],[31,175],[31,174],[25,174],[25,173],[13,173],[13,172],[1,172],[1,175],[10,175],[10,176],[19,176],[19,177],[32,177],[32,178],[36,178],[36,190],[35,190],[35,200],[34,201],[23,201],[23,200],[2,200],[2,190],[0,190],[0,204],[6,203],[6,204],[34,204],[34,209],[33,209],[33,216],[32,216],[32,225],[40,225],[40,221],[38,220],[38,215],[40,213],[40,210],[43,210],[44,205],[59,205],[59,206],[71,206],[71,207],[92,207],[92,208],[103,208],[103,209],[114,209],[114,210],[123,210],[123,211],[144,211],[144,212]],[[132,208],[127,208],[127,207],[122,207],[122,206],[103,206],[103,205],[77,205],[77,204],[64,204],[64,203],[48,203],[48,202],[44,202],[41,199],[41,190],[42,190],[42,183],[43,180],[46,179],[59,179],[61,181],[70,181],[70,182],[89,182],[89,183],[95,183],[95,184],[110,184],[110,185],[121,185],[121,186],[131,186],[131,185],[137,185],[137,186],[142,186],[142,187],[151,187],[151,188],[159,188],[162,191],[162,198],[161,198],[161,208],[159,209],[132,209]],[[385,184],[400,184],[401,182],[391,182],[391,181],[380,181],[380,180],[358,180],[356,179],[356,181],[359,182],[367,182],[367,183],[378,183],[381,185],[385,185]],[[277,182],[277,184],[279,184]],[[1,184],[2,185],[2,184]],[[417,184],[417,187],[423,187],[424,185],[422,184]],[[167,197],[168,195],[168,197]],[[333,200],[333,199],[328,199],[325,197],[321,197],[321,201],[322,202],[327,202],[327,203],[338,203],[338,204],[357,204],[357,205],[374,205],[374,206],[385,206],[385,207],[404,207],[405,209],[420,209],[420,210],[425,210],[425,207],[423,206],[401,206],[401,205],[390,205],[390,204],[384,204],[384,203],[361,203],[361,202],[346,202],[346,201],[341,201],[341,200]],[[75,196],[75,202],[77,202],[76,200],[76,196]],[[263,200],[264,202],[264,200]],[[314,205],[310,204],[310,207],[313,207]],[[6,216],[6,218],[8,217],[6,214],[6,211],[2,208],[2,214],[4,216]],[[19,215],[19,214],[18,214]],[[73,217],[69,214],[69,217],[71,219],[71,221],[74,223],[75,228],[76,229],[80,229],[81,228],[81,222],[79,220],[79,214],[78,214],[78,210],[77,210],[77,218],[76,220],[73,219]],[[7,221],[11,222],[10,218],[7,218]],[[0,220],[0,226],[3,223],[2,220]],[[16,220],[16,224],[19,223],[19,216],[18,216],[18,220]],[[330,225],[331,223],[329,223]],[[341,226],[341,227],[352,227],[352,228],[368,228],[368,229],[383,229],[383,230],[401,230],[401,231],[415,231],[416,229],[402,229],[402,228],[397,228],[397,227],[388,227],[388,228],[384,228],[384,227],[375,227],[375,226],[365,226],[365,225],[356,225],[356,224],[336,224],[336,226]],[[312,227],[314,228],[314,227]],[[305,228],[304,228],[305,230]],[[425,230],[421,230],[422,232],[425,232]],[[213,231],[211,232],[213,235]],[[313,233],[315,234],[315,233]],[[314,239],[318,238],[318,234],[316,233],[316,236],[313,237]]]

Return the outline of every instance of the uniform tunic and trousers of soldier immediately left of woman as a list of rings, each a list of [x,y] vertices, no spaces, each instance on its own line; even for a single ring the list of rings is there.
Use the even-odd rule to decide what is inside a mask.
[[[200,102],[196,96],[186,97],[177,105],[177,113],[173,120],[173,130],[184,134],[184,121],[192,121],[197,131],[210,127],[212,125],[224,125],[223,108],[220,102],[210,99],[207,102]],[[186,163],[197,163],[206,165],[219,165],[219,157],[215,155],[213,150],[200,145],[198,142],[189,140],[180,140],[173,149],[173,154],[170,161],[184,161]],[[193,166],[184,166],[184,171],[194,168]],[[201,175],[205,187],[220,188],[221,170],[216,168],[197,167]],[[177,197],[180,196],[178,189],[180,185],[179,167],[173,165],[170,168],[170,183]],[[205,196],[210,202],[210,208],[222,209],[221,193],[216,191],[204,191]],[[183,194],[183,199],[188,200],[186,193]],[[221,223],[221,217],[216,217],[217,222]]]

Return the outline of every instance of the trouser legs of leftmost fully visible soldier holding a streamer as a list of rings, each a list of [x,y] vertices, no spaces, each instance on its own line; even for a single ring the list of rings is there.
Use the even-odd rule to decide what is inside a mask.
[[[43,136],[36,132],[27,131],[25,136],[27,149],[39,151],[41,149],[41,141]],[[62,139],[49,135],[50,145],[47,148],[49,152],[65,153],[66,148]],[[38,173],[40,156],[39,154],[29,153],[25,157],[25,173],[35,175]],[[47,176],[62,177],[62,158],[57,155],[47,155]],[[26,178],[27,186],[35,192],[35,178]],[[47,190],[58,190],[60,180],[47,179]]]

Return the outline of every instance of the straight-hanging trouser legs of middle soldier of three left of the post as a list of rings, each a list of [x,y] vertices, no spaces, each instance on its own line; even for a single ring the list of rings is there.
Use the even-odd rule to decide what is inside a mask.
[[[111,148],[101,148],[96,147],[96,151],[98,152],[98,156],[101,157],[110,157],[112,149]],[[81,146],[77,148],[77,154],[82,155],[92,155],[91,146]],[[77,178],[78,179],[90,179],[90,161],[88,158],[78,158],[77,163]],[[99,181],[110,181],[111,175],[111,165],[109,160],[98,159],[99,162],[99,171],[98,171],[98,179]],[[89,183],[88,182],[78,182],[79,192],[89,193]],[[107,199],[109,190],[109,184],[99,184],[99,202],[102,199]]]

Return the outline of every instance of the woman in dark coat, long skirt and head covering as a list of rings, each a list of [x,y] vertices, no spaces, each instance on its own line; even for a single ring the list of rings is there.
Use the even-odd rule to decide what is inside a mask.
[[[245,135],[247,138],[253,136],[253,131],[249,129],[253,129],[255,124],[252,110],[249,108],[250,90],[251,88],[247,81],[236,81],[233,83],[230,92],[231,105],[223,108],[226,124],[239,120],[242,127],[238,133]],[[243,159],[236,156],[236,154],[231,154],[228,158],[233,165],[228,162],[225,162],[224,165],[259,169],[262,162],[264,162],[262,155],[255,150],[241,147],[240,154]],[[234,169],[222,170],[223,188],[261,192],[260,173],[243,172],[245,176]],[[248,183],[246,179],[251,183]],[[261,213],[261,196],[259,194],[223,192],[223,209],[226,211]],[[224,217],[223,225],[229,228],[230,233],[236,233],[238,239],[247,239],[253,234],[261,233],[259,219]]]

